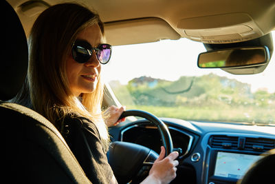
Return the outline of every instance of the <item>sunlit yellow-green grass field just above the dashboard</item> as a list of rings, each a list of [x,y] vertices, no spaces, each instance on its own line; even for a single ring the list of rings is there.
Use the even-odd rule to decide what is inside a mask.
[[[126,106],[127,110],[144,110],[159,117],[170,117],[192,121],[222,121],[245,123],[274,123],[275,109],[265,108],[207,108],[207,107],[159,107],[147,105]]]

